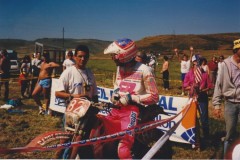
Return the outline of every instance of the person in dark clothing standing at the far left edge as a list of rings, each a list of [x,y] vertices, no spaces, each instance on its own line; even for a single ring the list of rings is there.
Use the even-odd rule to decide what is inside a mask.
[[[11,63],[8,58],[8,52],[6,49],[2,50],[2,60],[0,61],[0,66],[1,66],[1,70],[2,70],[2,74],[1,74],[2,82],[1,82],[0,86],[2,86],[2,84],[4,84],[4,87],[5,87],[3,100],[8,101]]]

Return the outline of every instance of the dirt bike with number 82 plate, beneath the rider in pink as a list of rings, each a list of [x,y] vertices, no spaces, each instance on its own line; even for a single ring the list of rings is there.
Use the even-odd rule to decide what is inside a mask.
[[[138,107],[140,110],[138,124],[152,121],[159,114],[166,114],[158,105],[148,107],[138,105]],[[74,98],[71,100],[65,111],[64,129],[66,134],[60,136],[60,143],[76,142],[105,135],[104,122],[106,119],[104,119],[104,114],[109,113],[111,108],[119,108],[119,106],[105,102],[93,103],[85,98]],[[99,111],[102,114],[99,114]],[[116,123],[119,123],[119,121]],[[133,157],[137,159],[142,158],[151,148],[151,145],[162,135],[163,132],[156,128],[135,135],[135,142],[132,148]],[[43,146],[50,142],[51,140],[41,144]],[[55,158],[118,159],[117,144],[118,140],[115,140],[81,147],[58,149]],[[171,159],[171,151],[170,142],[167,141],[153,158]]]

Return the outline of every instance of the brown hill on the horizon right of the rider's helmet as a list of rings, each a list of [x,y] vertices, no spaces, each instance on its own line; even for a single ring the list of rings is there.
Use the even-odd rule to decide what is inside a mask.
[[[137,41],[140,50],[157,52],[169,51],[174,48],[180,50],[193,46],[201,50],[232,49],[233,40],[239,39],[240,33],[222,33],[206,35],[159,35],[145,37]]]

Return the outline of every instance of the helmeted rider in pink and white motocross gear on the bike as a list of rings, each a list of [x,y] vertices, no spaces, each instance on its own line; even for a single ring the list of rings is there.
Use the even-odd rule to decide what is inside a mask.
[[[131,39],[119,39],[112,42],[105,50],[117,65],[116,81],[111,101],[120,109],[113,108],[104,121],[107,134],[116,133],[137,125],[139,104],[143,106],[159,101],[158,89],[153,73],[148,66],[136,62],[137,46]],[[120,120],[119,125],[114,121]],[[109,123],[107,123],[109,122]],[[126,135],[118,144],[118,157],[132,159],[131,149],[134,135]]]

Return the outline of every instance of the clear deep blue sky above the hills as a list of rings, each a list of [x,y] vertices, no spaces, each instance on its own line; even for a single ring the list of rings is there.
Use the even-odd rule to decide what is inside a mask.
[[[0,39],[240,32],[240,0],[0,0]]]

